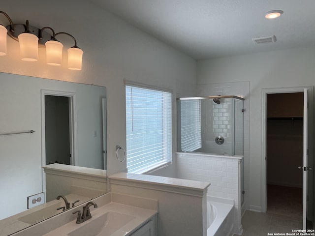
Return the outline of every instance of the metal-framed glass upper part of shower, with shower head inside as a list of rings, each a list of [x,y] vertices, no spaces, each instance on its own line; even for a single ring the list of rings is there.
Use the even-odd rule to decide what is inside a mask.
[[[243,101],[233,95],[177,98],[178,151],[243,155]]]

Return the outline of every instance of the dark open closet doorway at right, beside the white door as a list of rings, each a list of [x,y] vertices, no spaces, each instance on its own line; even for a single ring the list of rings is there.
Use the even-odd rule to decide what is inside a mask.
[[[267,212],[302,225],[303,92],[267,94],[266,140]]]

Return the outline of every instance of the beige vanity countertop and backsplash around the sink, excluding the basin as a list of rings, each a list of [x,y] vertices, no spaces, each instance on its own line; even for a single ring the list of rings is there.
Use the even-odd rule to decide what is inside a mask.
[[[139,198],[116,193],[108,193],[94,199],[97,208],[90,207],[92,219],[76,224],[77,214],[72,214],[76,210],[82,211],[82,206],[74,207],[63,214],[56,215],[36,225],[33,225],[23,231],[13,234],[14,236],[56,236],[67,235],[70,231],[79,228],[85,223],[89,223],[93,219],[108,211],[129,214],[134,217],[125,230],[133,233],[134,229],[144,225],[150,218],[158,213],[158,201],[148,198]],[[127,227],[127,228],[126,228]],[[115,232],[115,235],[119,235]],[[122,232],[121,236],[125,234]],[[129,235],[129,234],[128,234]]]

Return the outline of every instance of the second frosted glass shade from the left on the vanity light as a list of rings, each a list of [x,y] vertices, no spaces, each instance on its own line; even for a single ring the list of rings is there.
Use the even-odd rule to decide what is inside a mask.
[[[21,33],[18,36],[22,60],[36,61],[38,59],[38,38],[32,33]]]

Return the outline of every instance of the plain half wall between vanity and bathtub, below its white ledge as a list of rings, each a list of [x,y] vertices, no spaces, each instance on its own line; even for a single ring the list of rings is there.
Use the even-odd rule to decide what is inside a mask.
[[[139,178],[141,179],[141,178]],[[147,179],[147,178],[145,178]],[[150,178],[147,179],[150,181]],[[158,200],[158,236],[205,236],[206,235],[206,191],[203,196],[196,196],[194,191],[200,191],[199,186],[190,190],[187,194],[179,191],[182,187],[178,185],[175,189],[168,191],[168,180],[163,187],[156,188],[155,183],[144,183],[134,181],[116,183],[109,178],[110,187],[114,193],[131,196],[145,197]],[[196,182],[196,185],[199,185]],[[187,187],[187,186],[186,186]],[[185,189],[189,189],[186,188]]]

